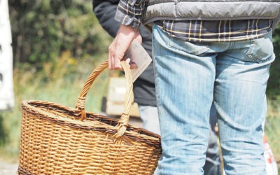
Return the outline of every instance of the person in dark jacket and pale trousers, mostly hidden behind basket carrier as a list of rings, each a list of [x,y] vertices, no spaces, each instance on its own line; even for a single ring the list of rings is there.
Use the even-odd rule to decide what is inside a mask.
[[[93,12],[100,25],[111,36],[116,36],[120,23],[114,20],[118,1],[92,1]],[[152,55],[152,35],[145,28],[140,27],[141,36],[143,38],[142,45]],[[153,72],[153,64],[150,64],[147,69],[141,73],[139,78],[133,84],[134,102],[139,105],[139,114],[143,121],[143,127],[146,130],[160,134],[160,124],[158,120],[158,109],[155,99],[155,78]]]

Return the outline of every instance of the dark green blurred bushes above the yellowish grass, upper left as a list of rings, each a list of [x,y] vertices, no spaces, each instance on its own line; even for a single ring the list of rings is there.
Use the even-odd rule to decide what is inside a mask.
[[[91,1],[8,2],[16,66],[25,62],[41,69],[43,62],[51,62],[64,50],[81,58],[107,48]]]

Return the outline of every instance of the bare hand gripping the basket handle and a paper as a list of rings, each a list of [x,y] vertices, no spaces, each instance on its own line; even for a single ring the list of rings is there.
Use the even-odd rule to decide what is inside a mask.
[[[124,58],[127,48],[134,39],[139,41],[139,43],[142,43],[139,29],[120,25],[116,38],[109,46],[109,69],[123,70],[120,65],[120,60]],[[130,63],[130,58],[125,59],[125,61],[130,64],[130,69],[137,67],[136,64]]]

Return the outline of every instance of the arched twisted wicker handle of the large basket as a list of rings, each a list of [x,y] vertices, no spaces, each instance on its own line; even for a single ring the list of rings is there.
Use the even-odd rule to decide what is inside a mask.
[[[133,103],[133,92],[132,92],[132,75],[130,66],[127,62],[122,61],[120,64],[123,66],[123,69],[125,71],[125,79],[126,79],[126,92],[125,92],[125,109],[120,116],[120,120],[118,121],[118,127],[119,131],[114,135],[114,137],[120,137],[125,133],[125,130],[127,130],[128,121],[130,120],[130,107]],[[104,71],[108,67],[108,60],[104,61],[102,64],[97,66],[90,76],[85,81],[85,85],[83,85],[83,89],[80,92],[80,96],[78,97],[78,100],[76,102],[76,109],[80,110],[80,120],[84,120],[86,118],[85,113],[85,99],[87,97],[87,92],[90,90],[90,87],[92,83],[94,82],[95,78],[99,76],[99,74]]]

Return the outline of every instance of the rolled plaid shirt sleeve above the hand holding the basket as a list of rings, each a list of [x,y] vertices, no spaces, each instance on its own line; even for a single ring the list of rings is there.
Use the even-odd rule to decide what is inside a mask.
[[[120,0],[116,11],[115,20],[122,25],[139,27],[148,0]]]

